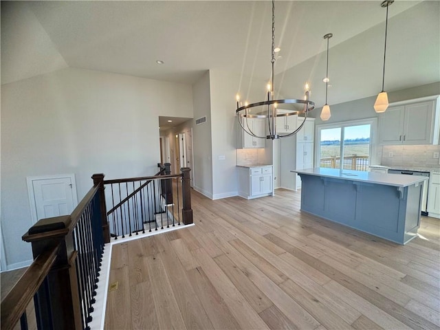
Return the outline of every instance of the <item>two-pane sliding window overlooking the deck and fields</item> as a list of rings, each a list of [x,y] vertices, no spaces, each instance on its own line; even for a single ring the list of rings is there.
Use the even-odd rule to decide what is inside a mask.
[[[317,126],[319,167],[368,170],[373,153],[376,119]]]

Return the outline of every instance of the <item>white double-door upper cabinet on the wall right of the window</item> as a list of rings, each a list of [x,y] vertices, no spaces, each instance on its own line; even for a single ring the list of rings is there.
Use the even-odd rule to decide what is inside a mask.
[[[439,144],[438,97],[391,104],[379,118],[380,144]]]

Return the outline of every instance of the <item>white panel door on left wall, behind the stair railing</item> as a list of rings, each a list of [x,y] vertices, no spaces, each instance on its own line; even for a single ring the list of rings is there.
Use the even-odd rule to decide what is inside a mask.
[[[28,177],[28,191],[34,223],[70,214],[78,204],[74,175]]]

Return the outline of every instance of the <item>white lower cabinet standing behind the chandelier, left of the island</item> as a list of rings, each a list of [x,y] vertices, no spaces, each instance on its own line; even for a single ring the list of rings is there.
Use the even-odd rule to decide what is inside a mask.
[[[239,168],[239,196],[245,199],[272,195],[272,165]]]

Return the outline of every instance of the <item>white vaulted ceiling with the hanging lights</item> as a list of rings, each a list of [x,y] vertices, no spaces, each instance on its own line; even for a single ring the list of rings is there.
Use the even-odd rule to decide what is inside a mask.
[[[309,80],[322,105],[328,32],[331,102],[377,94],[381,2],[276,1],[282,94]],[[271,9],[270,1],[1,1],[1,83],[63,67],[188,84],[208,69],[267,79]],[[439,1],[395,1],[389,13],[386,89],[439,81]]]

